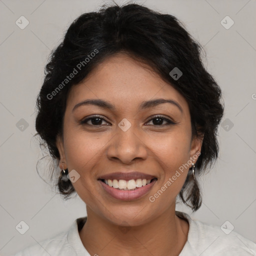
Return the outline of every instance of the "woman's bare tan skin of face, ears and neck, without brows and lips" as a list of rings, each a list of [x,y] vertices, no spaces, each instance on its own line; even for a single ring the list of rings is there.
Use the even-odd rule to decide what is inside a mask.
[[[72,111],[77,103],[92,98],[111,102],[115,110],[89,104]],[[171,103],[138,111],[142,101],[154,98],[172,99],[182,111]],[[166,125],[165,120],[155,122],[152,118],[157,114],[175,124]],[[101,122],[97,122],[101,125],[91,119],[87,125],[80,123],[92,115],[102,116]],[[125,132],[118,126],[123,118],[131,123]],[[64,168],[75,169],[80,174],[73,186],[86,203],[87,221],[79,235],[90,255],[177,256],[180,253],[189,225],[175,215],[175,201],[188,168],[154,202],[148,197],[182,163],[200,152],[201,142],[202,139],[192,138],[184,97],[128,55],[118,53],[108,57],[86,79],[72,86],[64,113],[63,136],[57,138],[59,166],[62,167],[63,160]],[[97,177],[120,169],[148,173],[157,177],[157,181],[141,198],[118,200],[105,192]],[[121,226],[129,228],[124,232]]]

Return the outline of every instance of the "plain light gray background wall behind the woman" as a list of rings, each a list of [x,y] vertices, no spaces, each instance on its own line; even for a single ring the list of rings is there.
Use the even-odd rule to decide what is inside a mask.
[[[10,255],[48,238],[86,215],[85,204],[78,196],[62,201],[36,172],[42,153],[38,141],[32,138],[34,107],[50,50],[78,15],[104,2],[110,3],[0,0],[0,255]],[[136,2],[173,14],[185,24],[204,45],[203,61],[223,91],[225,115],[219,127],[219,159],[200,181],[203,203],[191,216],[218,226],[228,220],[234,231],[256,242],[256,2]],[[15,24],[21,15],[29,21],[24,29]],[[234,21],[229,29],[220,23],[226,15]],[[23,130],[21,118],[28,124]],[[47,164],[41,161],[40,166],[47,168]],[[191,213],[179,204],[177,210]],[[23,235],[15,229],[21,220],[29,226]]]

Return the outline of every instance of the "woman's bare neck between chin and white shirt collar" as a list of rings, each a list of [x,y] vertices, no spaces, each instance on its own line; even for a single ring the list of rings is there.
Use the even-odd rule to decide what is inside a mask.
[[[86,209],[87,220],[79,235],[90,255],[178,256],[187,240],[189,225],[175,215],[175,208],[143,225],[126,227]]]

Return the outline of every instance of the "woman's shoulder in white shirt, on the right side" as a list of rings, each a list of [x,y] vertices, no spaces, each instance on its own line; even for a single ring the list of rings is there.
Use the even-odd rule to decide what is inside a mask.
[[[200,254],[201,256],[256,255],[256,243],[231,230],[230,222],[230,224],[227,222],[220,227],[193,220],[184,212],[178,214],[185,217],[189,222],[187,243],[184,246],[184,251],[192,251],[194,255]]]

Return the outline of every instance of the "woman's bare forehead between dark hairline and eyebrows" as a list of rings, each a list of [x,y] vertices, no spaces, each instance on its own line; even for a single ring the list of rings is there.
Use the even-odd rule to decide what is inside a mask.
[[[83,81],[72,86],[67,105],[100,98],[120,107],[139,105],[153,98],[168,98],[188,109],[185,98],[151,67],[118,53],[99,63]]]

